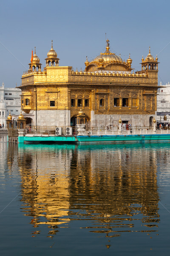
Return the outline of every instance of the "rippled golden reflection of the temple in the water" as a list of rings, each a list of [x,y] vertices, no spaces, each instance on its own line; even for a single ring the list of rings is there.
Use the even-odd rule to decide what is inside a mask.
[[[22,211],[33,236],[48,225],[82,221],[81,228],[106,233],[152,232],[159,223],[156,149],[134,145],[8,145],[8,169],[18,165]],[[16,146],[15,146],[16,147]],[[145,147],[145,148],[143,148]],[[85,221],[87,220],[87,221]],[[89,226],[90,223],[90,226]]]

